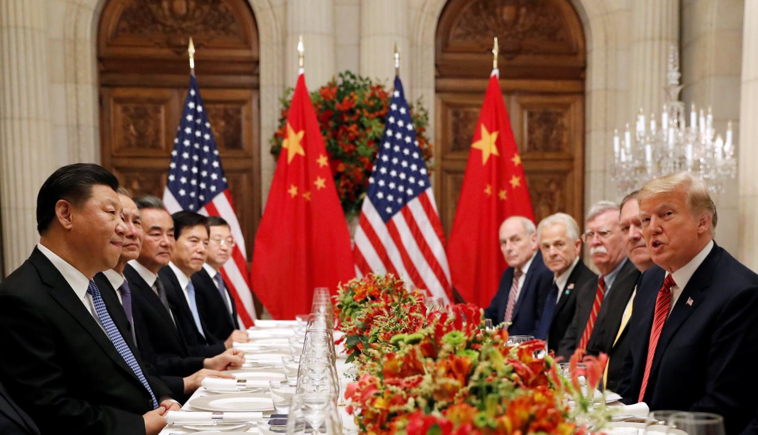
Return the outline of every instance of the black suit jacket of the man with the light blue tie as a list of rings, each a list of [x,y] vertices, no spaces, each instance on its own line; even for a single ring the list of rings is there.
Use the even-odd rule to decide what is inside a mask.
[[[184,297],[184,290],[180,287],[179,279],[177,279],[174,271],[171,270],[171,266],[161,267],[161,270],[158,270],[158,279],[163,282],[163,286],[166,288],[168,304],[171,306],[171,310],[174,311],[177,326],[187,345],[191,347],[205,346],[204,355],[206,357],[214,357],[225,351],[226,346],[224,346],[224,342],[219,342],[211,334],[205,323],[203,323],[202,318],[200,319],[200,325],[202,326],[203,333],[201,334],[197,329],[192,311],[189,310],[189,304],[187,304]],[[195,293],[197,295],[197,289],[195,289]],[[195,301],[197,301],[197,298]]]

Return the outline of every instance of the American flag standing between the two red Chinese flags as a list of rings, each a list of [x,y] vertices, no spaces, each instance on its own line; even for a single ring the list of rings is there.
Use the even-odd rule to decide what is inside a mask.
[[[358,276],[394,273],[449,301],[442,225],[400,77],[395,77],[355,243]]]

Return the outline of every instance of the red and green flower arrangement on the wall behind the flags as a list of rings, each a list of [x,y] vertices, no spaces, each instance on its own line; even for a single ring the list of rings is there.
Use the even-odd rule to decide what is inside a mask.
[[[278,157],[287,128],[287,112],[293,90],[287,90],[280,99],[282,112],[279,128],[271,143],[271,154]],[[350,71],[340,73],[323,87],[311,93],[321,135],[327,149],[334,184],[340,196],[346,217],[357,215],[362,206],[368,177],[377,155],[377,141],[381,140],[384,118],[390,105],[390,93],[384,84],[371,83],[366,77]],[[414,109],[415,106],[415,109]],[[410,105],[411,118],[416,131],[418,147],[429,164],[432,146],[426,135],[428,111],[421,101]]]

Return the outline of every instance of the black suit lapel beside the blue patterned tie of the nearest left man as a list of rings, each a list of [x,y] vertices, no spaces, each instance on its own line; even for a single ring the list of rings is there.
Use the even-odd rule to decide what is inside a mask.
[[[55,301],[58,301],[58,304],[61,304],[61,307],[63,307],[64,310],[67,310],[68,313],[77,320],[83,329],[89,333],[89,336],[92,336],[92,339],[95,340],[100,348],[105,351],[105,354],[108,355],[117,366],[124,369],[130,377],[142,385],[136,377],[136,374],[134,374],[132,369],[127,365],[127,361],[124,361],[124,358],[116,351],[116,347],[111,342],[111,339],[108,339],[108,335],[102,330],[97,320],[95,320],[95,317],[92,317],[89,310],[84,307],[82,301],[80,301],[79,298],[77,298],[77,294],[74,293],[74,289],[68,285],[66,279],[64,279],[61,273],[58,272],[58,269],[53,266],[50,260],[45,257],[45,254],[42,254],[42,252],[35,248],[31,257],[29,257],[29,260],[39,272],[42,282],[45,282],[45,285],[50,287],[50,295],[52,298],[54,298]]]

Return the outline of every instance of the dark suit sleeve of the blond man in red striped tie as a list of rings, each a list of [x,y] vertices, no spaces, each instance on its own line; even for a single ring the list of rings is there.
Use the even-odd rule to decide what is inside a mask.
[[[714,412],[724,417],[727,433],[742,430],[744,416],[755,412],[758,378],[751,376],[758,360],[758,287],[738,292],[725,304],[716,321],[706,360],[706,395],[691,411]],[[743,427],[729,427],[743,421]]]

